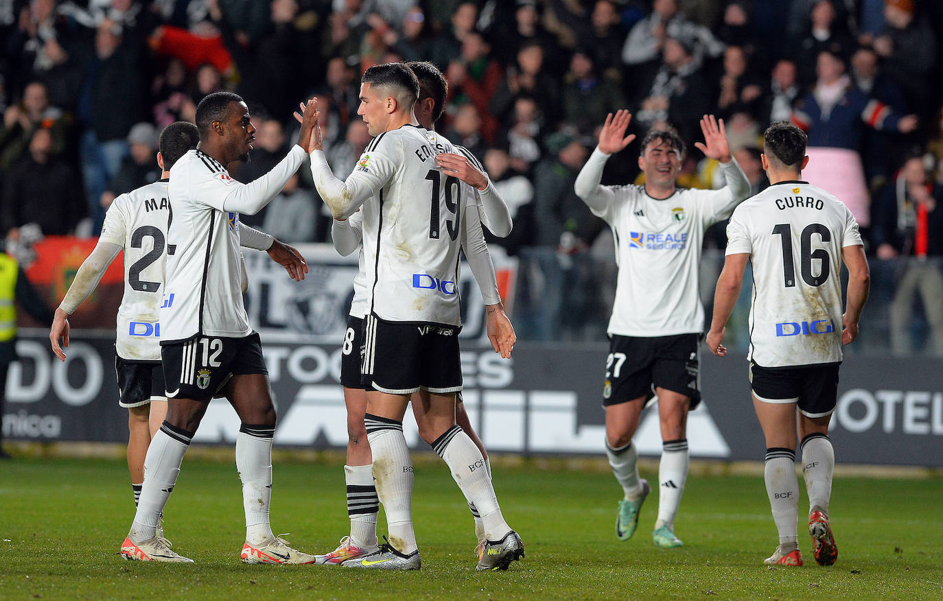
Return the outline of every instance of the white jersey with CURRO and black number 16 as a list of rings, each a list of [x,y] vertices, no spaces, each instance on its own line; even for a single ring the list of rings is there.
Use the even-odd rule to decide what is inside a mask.
[[[736,207],[727,238],[726,253],[749,253],[753,264],[748,358],[841,361],[841,252],[862,244],[848,207],[820,187],[782,182]]]

